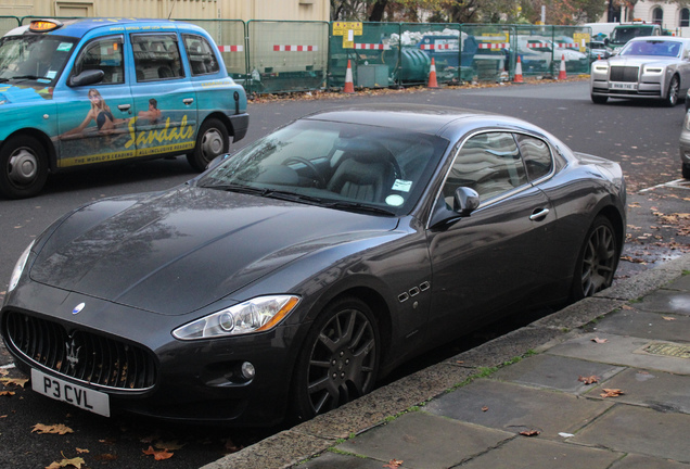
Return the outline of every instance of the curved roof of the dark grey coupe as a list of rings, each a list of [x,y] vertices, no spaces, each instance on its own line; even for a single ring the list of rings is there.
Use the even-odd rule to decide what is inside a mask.
[[[527,122],[461,107],[424,104],[359,104],[332,107],[310,114],[305,119],[331,121],[371,127],[408,129],[442,137],[458,136],[485,127],[512,127],[545,134]]]

